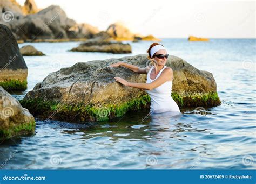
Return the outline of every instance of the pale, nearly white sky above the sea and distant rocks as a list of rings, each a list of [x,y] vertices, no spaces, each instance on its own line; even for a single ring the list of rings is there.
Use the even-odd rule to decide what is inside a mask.
[[[21,5],[25,0],[17,0]],[[133,33],[158,38],[255,38],[256,1],[35,0],[59,5],[69,18],[106,30],[121,22]]]

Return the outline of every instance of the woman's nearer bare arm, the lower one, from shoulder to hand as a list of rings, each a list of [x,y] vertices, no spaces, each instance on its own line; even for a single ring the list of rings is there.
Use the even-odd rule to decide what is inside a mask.
[[[164,69],[163,73],[151,83],[127,82],[126,80],[120,77],[114,77],[114,79],[116,79],[117,82],[122,83],[124,86],[129,86],[129,87],[138,88],[138,89],[152,90],[154,88],[157,88],[158,86],[161,86],[161,84],[165,83],[166,81],[172,80],[172,76],[173,76],[172,69],[167,68],[167,69]]]

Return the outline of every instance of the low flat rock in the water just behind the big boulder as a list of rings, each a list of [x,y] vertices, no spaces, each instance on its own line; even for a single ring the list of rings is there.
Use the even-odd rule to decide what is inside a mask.
[[[106,41],[86,41],[70,51],[76,52],[107,52],[113,54],[131,53],[130,44],[113,43]]]

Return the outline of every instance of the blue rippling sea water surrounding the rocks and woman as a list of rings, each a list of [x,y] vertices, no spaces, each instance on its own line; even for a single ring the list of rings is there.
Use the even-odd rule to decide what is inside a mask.
[[[164,39],[162,43],[171,54],[213,73],[220,106],[150,117],[147,109],[86,124],[37,120],[34,135],[0,145],[1,169],[255,169],[255,39],[208,43]],[[66,52],[79,43],[29,44],[47,56],[25,57],[28,90],[61,67],[124,56]],[[151,42],[130,44],[136,55]],[[25,93],[12,96],[20,99]]]

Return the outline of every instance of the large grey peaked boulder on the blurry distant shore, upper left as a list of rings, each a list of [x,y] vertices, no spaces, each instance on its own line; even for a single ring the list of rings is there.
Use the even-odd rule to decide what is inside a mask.
[[[68,38],[68,30],[76,24],[59,7],[51,5],[35,14],[15,17],[2,23],[8,25],[17,40],[63,39]]]

